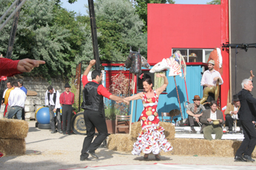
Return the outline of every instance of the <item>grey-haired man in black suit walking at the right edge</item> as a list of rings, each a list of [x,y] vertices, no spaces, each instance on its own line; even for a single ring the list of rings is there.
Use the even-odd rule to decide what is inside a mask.
[[[252,152],[256,145],[256,130],[255,130],[255,104],[256,98],[252,97],[252,81],[244,79],[242,82],[243,89],[238,92],[240,100],[240,109],[238,112],[241,125],[243,127],[244,139],[237,153],[235,161],[254,162]]]

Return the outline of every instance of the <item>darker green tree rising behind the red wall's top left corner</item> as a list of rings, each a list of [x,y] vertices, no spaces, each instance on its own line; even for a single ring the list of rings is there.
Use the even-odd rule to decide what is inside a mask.
[[[136,0],[135,8],[136,13],[142,19],[144,27],[142,28],[144,33],[147,33],[147,4],[175,4],[173,0]]]

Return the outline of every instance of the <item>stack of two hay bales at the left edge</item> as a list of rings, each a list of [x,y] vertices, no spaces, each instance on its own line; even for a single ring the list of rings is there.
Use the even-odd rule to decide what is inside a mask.
[[[0,152],[4,155],[25,154],[28,123],[24,120],[0,119]]]

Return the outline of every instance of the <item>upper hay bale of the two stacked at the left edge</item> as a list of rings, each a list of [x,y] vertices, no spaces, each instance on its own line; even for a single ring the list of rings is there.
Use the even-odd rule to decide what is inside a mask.
[[[1,139],[24,139],[27,137],[28,123],[24,120],[0,119]]]

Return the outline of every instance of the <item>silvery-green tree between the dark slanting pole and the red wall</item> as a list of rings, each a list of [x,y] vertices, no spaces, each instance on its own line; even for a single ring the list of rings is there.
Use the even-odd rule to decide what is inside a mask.
[[[95,1],[95,17],[105,59],[111,57],[112,61],[125,61],[129,46],[132,50],[140,47],[141,54],[146,56],[146,34],[141,30],[144,24],[128,0]]]

